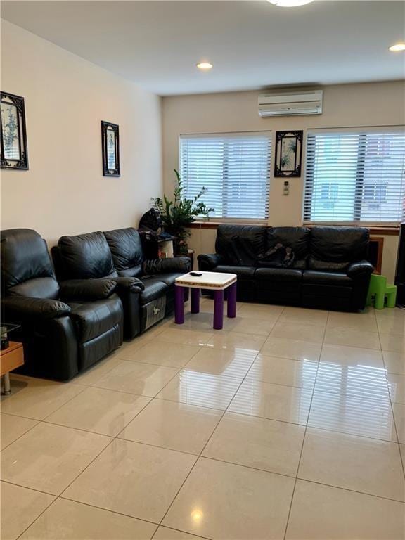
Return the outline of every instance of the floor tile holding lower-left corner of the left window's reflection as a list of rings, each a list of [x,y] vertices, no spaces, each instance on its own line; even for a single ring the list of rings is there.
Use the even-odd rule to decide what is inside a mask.
[[[184,369],[156,397],[224,411],[239,385],[238,378]]]

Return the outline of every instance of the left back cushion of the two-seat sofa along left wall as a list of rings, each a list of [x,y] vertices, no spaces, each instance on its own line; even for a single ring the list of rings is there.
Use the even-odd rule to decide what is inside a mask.
[[[63,279],[116,277],[113,257],[101,231],[61,236],[58,253],[52,251],[56,273]]]

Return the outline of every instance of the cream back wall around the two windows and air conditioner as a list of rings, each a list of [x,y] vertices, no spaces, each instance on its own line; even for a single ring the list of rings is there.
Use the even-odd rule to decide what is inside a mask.
[[[278,130],[303,129],[305,138],[305,130],[316,127],[405,124],[405,83],[400,81],[326,86],[323,114],[319,116],[260,118],[257,114],[258,94],[258,91],[249,91],[163,98],[166,193],[171,193],[174,186],[173,169],[178,166],[180,134],[262,130],[272,131],[275,138]],[[287,197],[283,195],[283,182],[284,179],[271,176],[269,224],[300,225],[304,179],[290,179],[290,195]],[[193,230],[191,248],[197,252],[212,252],[214,238],[215,231]],[[391,281],[396,257],[397,237],[385,236],[383,273]]]

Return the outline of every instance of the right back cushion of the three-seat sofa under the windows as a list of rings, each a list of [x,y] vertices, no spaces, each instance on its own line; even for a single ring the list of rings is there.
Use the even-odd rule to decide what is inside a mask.
[[[369,232],[365,227],[313,227],[309,268],[345,271],[355,261],[367,258]]]

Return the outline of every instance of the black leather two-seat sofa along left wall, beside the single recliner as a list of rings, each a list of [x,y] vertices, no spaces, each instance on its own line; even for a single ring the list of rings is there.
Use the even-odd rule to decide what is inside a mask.
[[[136,229],[62,236],[52,248],[61,286],[113,280],[124,309],[124,338],[134,338],[174,309],[174,279],[190,270],[188,257],[144,260]]]

